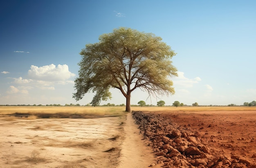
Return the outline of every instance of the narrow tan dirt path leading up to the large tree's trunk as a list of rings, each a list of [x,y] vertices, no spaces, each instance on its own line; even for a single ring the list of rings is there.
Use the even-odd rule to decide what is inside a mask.
[[[127,114],[124,133],[119,168],[147,168],[156,163],[152,148],[146,146],[148,144],[146,140],[142,140],[143,136],[139,134],[131,113]],[[153,166],[153,168],[158,167]]]

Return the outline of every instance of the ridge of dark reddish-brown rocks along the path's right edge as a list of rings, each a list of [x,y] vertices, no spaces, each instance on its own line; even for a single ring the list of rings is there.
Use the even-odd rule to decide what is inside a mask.
[[[164,168],[256,168],[239,156],[218,155],[202,143],[198,132],[173,124],[168,115],[132,111],[140,132],[150,140],[157,163]]]

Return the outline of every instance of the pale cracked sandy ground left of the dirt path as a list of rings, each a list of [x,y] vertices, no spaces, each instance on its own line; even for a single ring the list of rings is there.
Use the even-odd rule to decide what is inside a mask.
[[[0,118],[0,168],[115,168],[124,120]]]

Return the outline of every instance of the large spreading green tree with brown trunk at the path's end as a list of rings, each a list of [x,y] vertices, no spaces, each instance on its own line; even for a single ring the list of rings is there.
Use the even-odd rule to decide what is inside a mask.
[[[88,92],[96,92],[92,106],[111,98],[110,88],[119,89],[126,98],[130,112],[131,93],[137,88],[152,94],[174,94],[169,77],[177,76],[171,58],[175,52],[161,37],[131,28],[114,29],[99,36],[99,42],[86,44],[80,52],[79,77],[75,79],[76,93],[81,100]]]

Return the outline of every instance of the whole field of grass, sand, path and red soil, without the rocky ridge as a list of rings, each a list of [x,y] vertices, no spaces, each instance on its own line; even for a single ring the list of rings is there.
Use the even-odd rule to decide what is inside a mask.
[[[136,138],[141,140],[143,134],[139,135],[138,126],[129,121],[131,114],[124,110],[125,107],[0,107],[0,168],[128,168],[131,160],[137,167],[144,162],[148,166],[155,163],[156,168],[164,166],[163,156],[150,157],[157,151],[143,148],[150,142],[138,143]],[[215,154],[229,159],[237,156],[256,164],[256,107],[132,110],[167,116],[181,131],[200,135],[200,141],[213,148]],[[131,160],[125,159],[129,153]]]

